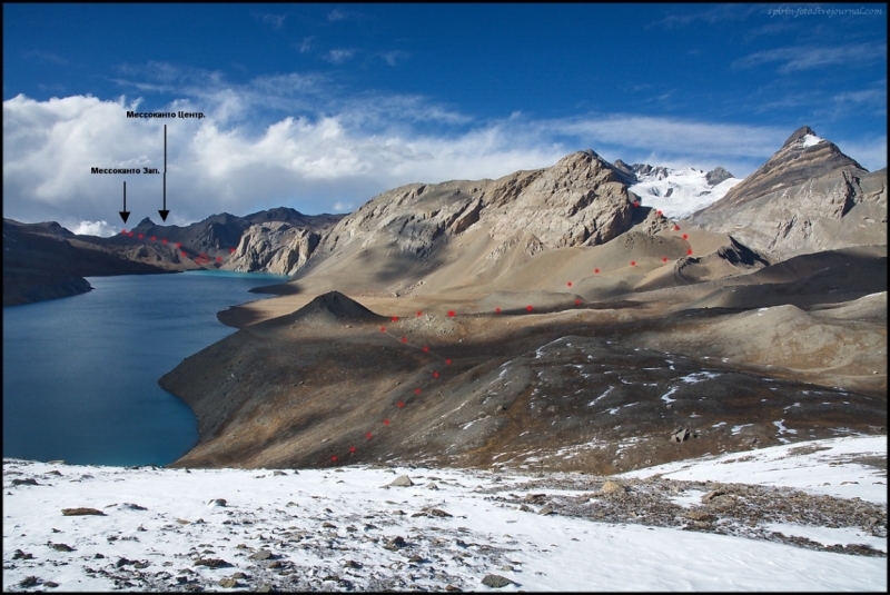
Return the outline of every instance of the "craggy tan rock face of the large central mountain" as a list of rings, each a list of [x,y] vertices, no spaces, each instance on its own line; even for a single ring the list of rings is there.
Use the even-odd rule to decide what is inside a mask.
[[[461,235],[483,234],[494,259],[520,246],[542,250],[604,244],[632,225],[621,172],[592,150],[551,168],[497,180],[413,184],[384,192],[323,237],[307,270],[332,256],[383,249],[406,262],[433,259]]]

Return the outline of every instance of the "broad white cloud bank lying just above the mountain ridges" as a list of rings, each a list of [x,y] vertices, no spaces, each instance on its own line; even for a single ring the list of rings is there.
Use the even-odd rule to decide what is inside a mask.
[[[610,161],[705,170],[720,165],[743,177],[793,131],[621,113],[534,120],[514,112],[478,121],[419,96],[344,97],[320,77],[281,75],[236,86],[212,72],[154,70],[184,99],[150,108],[123,97],[6,100],[4,216],[82,229],[118,225],[126,180],[130,221],[159,222],[160,176],[92,175],[90,168],[162,168],[164,123],[167,222],[174,225],[274,206],[352,210],[405,184],[498,178],[548,167],[587,147]],[[199,110],[207,118],[127,119],[126,110],[137,106]],[[872,169],[886,145],[886,138],[859,146],[850,139],[844,147]]]

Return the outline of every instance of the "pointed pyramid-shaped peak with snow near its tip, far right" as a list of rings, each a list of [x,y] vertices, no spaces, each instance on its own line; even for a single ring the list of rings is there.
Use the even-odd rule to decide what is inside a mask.
[[[887,170],[869,173],[803,127],[689,220],[778,257],[887,244]]]

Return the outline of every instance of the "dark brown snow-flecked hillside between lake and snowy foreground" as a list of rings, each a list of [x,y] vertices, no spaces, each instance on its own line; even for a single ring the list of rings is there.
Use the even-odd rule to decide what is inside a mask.
[[[383,323],[267,320],[186,359],[160,381],[198,416],[200,442],[176,465],[316,467],[337,457],[611,473],[886,427],[886,396],[849,388],[877,366],[886,390],[876,357],[886,335],[842,313],[616,304],[452,317],[404,311],[419,299],[396,303],[378,310]],[[797,338],[775,357],[782,333]],[[839,350],[846,341],[869,347]],[[802,383],[815,367],[824,384]],[[683,428],[689,439],[671,443]]]

